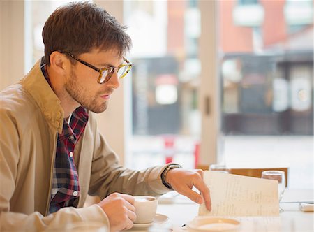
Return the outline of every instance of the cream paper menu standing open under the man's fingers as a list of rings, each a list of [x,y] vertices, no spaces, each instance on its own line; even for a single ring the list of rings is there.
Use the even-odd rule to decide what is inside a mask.
[[[204,172],[211,193],[211,212],[200,205],[199,215],[278,216],[278,182],[242,175]]]

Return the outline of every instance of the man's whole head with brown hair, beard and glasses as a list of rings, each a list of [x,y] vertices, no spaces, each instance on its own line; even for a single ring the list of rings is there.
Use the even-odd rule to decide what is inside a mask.
[[[69,3],[43,28],[45,62],[65,114],[83,106],[96,113],[132,66],[123,56],[131,40],[117,20],[94,3]]]

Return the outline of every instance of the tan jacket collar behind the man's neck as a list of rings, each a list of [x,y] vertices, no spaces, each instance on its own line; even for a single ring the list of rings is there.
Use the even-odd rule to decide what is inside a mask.
[[[33,66],[20,83],[36,101],[50,127],[57,130],[58,133],[62,133],[64,111],[60,104],[61,101],[45,79],[40,69],[40,61]]]

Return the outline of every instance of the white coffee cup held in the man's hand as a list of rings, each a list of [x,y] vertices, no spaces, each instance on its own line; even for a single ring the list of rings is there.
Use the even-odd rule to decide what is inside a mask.
[[[135,196],[136,224],[146,224],[154,221],[158,200],[154,196]]]

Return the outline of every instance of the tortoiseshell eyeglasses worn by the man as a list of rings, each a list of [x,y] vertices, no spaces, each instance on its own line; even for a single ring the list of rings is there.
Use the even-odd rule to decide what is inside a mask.
[[[59,51],[59,52],[61,52],[61,51]],[[76,61],[79,61],[81,64],[84,64],[85,66],[92,68],[95,71],[98,71],[99,78],[98,78],[97,82],[99,84],[103,84],[103,83],[107,82],[108,80],[110,80],[114,71],[117,71],[119,79],[124,78],[133,66],[133,64],[131,64],[130,61],[128,61],[125,57],[123,57],[124,61],[126,61],[126,64],[120,64],[117,67],[110,66],[107,68],[97,68],[94,65],[91,65],[91,64],[87,63],[86,61],[83,61],[82,59],[76,58],[75,56],[70,54],[70,52],[61,52],[61,53],[65,53],[69,57],[75,59]]]

